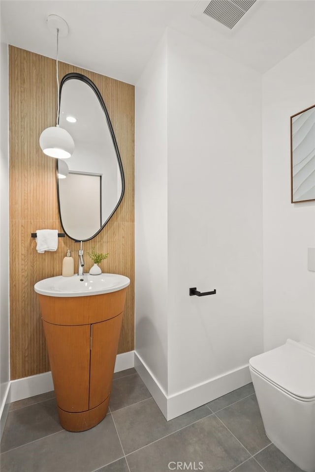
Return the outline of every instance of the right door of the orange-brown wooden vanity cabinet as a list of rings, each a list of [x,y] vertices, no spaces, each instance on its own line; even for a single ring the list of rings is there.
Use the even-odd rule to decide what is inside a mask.
[[[123,313],[91,325],[90,409],[102,403],[110,393],[122,319]]]

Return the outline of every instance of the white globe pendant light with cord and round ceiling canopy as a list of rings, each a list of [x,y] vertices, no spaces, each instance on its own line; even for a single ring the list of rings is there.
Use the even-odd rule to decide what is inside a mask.
[[[59,79],[58,79],[58,45],[59,37],[65,37],[69,28],[67,23],[58,15],[49,15],[47,18],[48,29],[57,35],[57,56],[56,56],[56,75],[57,75],[57,118],[56,126],[50,126],[44,129],[39,137],[39,146],[42,151],[51,157],[58,159],[67,159],[74,151],[74,141],[71,135],[63,128],[59,127]]]

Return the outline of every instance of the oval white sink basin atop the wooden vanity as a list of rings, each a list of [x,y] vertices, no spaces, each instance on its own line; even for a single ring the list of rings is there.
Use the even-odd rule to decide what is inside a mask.
[[[49,296],[88,296],[117,292],[129,284],[130,279],[119,274],[57,275],[40,280],[34,285],[34,290],[37,294]]]

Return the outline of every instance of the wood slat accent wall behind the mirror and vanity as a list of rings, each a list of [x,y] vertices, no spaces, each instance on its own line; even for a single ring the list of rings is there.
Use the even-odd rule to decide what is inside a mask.
[[[92,266],[86,252],[95,246],[109,252],[103,272],[128,276],[123,326],[118,353],[134,348],[134,87],[63,62],[59,78],[69,72],[89,77],[100,90],[112,121],[123,162],[124,199],[105,228],[83,243],[85,271]],[[39,135],[55,126],[57,110],[56,61],[10,46],[10,364],[11,380],[50,370],[38,296],[34,284],[60,275],[66,249],[79,243],[59,238],[56,252],[38,254],[31,233],[40,229],[62,232],[58,214],[56,161],[39,147]]]

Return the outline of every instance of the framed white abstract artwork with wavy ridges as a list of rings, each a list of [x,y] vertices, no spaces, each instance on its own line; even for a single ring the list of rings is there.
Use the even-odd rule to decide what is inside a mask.
[[[291,202],[315,200],[315,105],[291,117]]]

